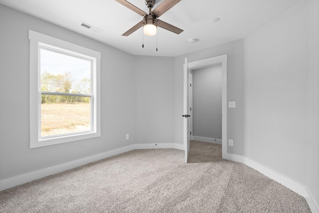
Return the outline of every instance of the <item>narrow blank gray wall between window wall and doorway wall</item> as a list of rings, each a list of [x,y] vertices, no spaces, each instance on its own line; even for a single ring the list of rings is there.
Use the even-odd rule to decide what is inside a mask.
[[[174,142],[174,58],[134,56],[136,143]]]

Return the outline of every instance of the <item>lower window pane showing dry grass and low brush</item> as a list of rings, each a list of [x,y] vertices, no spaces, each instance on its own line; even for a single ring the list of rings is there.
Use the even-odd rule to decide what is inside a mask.
[[[41,137],[90,131],[90,103],[90,97],[42,95]]]

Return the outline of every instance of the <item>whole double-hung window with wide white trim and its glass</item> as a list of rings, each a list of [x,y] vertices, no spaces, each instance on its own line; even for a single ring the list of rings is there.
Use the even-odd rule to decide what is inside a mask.
[[[30,148],[99,137],[101,54],[29,30]]]

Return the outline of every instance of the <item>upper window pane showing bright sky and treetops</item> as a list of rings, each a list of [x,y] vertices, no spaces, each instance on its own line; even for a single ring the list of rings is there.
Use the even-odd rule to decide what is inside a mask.
[[[92,61],[40,48],[40,90],[91,94]]]

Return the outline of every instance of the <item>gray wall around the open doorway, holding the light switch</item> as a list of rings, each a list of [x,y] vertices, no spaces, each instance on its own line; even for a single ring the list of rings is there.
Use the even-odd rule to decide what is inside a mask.
[[[215,56],[228,56],[227,102],[235,101],[236,108],[227,108],[228,139],[234,146],[227,146],[227,152],[244,154],[244,43],[237,40],[204,50],[175,57],[175,143],[183,144],[183,64]]]

